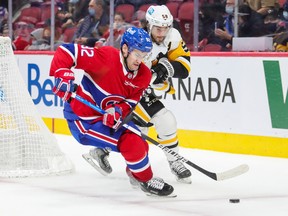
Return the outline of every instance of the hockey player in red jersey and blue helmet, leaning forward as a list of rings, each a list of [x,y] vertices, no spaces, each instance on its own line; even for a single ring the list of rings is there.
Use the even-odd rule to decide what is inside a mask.
[[[173,187],[153,177],[147,142],[124,127],[117,128],[149,85],[151,72],[142,60],[151,49],[148,33],[136,27],[123,34],[120,51],[64,44],[56,50],[50,75],[55,77],[53,92],[66,101],[64,117],[72,135],[83,145],[97,147],[86,155],[88,160],[96,160],[109,173],[108,151],[120,152],[127,174],[145,193],[169,196]],[[104,115],[71,98],[75,79],[71,68],[84,71],[76,94],[105,110]],[[127,124],[137,128],[133,122]]]

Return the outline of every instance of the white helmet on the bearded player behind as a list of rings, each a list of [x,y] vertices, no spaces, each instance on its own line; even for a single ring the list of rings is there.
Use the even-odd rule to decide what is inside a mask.
[[[149,31],[151,32],[153,26],[172,26],[173,16],[165,5],[152,5],[146,12],[146,20],[149,24]]]

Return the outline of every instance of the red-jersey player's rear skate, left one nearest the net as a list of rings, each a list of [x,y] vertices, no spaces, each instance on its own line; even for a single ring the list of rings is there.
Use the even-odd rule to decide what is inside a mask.
[[[112,172],[108,161],[109,152],[106,149],[94,148],[88,154],[83,154],[82,157],[102,175],[107,176]]]

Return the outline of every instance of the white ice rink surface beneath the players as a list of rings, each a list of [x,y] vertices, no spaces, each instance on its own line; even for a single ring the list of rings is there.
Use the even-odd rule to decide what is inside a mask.
[[[172,184],[177,198],[148,197],[130,187],[125,163],[111,153],[110,176],[102,176],[81,157],[90,147],[71,136],[56,136],[75,164],[65,176],[0,179],[0,216],[287,216],[288,160],[180,149],[180,154],[213,172],[240,164],[250,170],[236,178],[214,181],[191,168],[192,184],[176,182],[162,150],[150,145],[155,175]],[[229,199],[240,203],[229,203]]]

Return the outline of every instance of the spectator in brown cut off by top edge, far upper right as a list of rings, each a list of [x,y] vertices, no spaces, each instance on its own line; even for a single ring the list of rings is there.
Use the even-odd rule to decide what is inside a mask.
[[[268,10],[279,9],[278,0],[245,0],[244,3],[264,17],[268,14]]]

